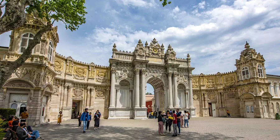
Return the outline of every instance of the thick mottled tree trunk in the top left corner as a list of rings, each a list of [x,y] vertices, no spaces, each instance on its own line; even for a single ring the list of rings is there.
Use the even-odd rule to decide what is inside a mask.
[[[21,27],[25,23],[25,7],[32,0],[10,0],[5,4],[5,13],[0,18],[0,35]],[[1,2],[2,3],[2,2]],[[2,10],[0,9],[2,15]]]

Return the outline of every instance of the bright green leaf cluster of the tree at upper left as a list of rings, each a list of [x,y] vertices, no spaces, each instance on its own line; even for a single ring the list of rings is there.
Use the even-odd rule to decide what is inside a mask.
[[[86,23],[85,0],[32,0],[26,7],[28,13],[37,12],[48,22],[62,21],[66,29],[78,29]]]

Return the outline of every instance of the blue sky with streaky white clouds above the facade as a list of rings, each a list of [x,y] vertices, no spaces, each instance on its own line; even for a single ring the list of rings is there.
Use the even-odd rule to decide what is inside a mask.
[[[86,0],[86,24],[76,31],[58,26],[56,51],[86,63],[109,65],[112,46],[133,51],[139,39],[170,44],[177,58],[189,53],[194,74],[236,69],[246,41],[264,55],[267,74],[280,75],[279,0]],[[10,33],[0,45],[8,46]],[[152,92],[150,86],[148,92]]]

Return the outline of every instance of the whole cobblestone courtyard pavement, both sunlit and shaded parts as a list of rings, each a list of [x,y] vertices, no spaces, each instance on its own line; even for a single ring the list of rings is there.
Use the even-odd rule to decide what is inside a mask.
[[[157,119],[101,119],[100,129],[94,131],[93,126],[94,122],[91,122],[90,130],[87,130],[85,134],[82,133],[82,127],[78,128],[78,120],[64,121],[61,125],[41,125],[33,127],[33,130],[39,130],[40,136],[45,138],[45,140],[162,140],[172,138],[172,133],[165,133],[166,136],[158,135]],[[171,132],[173,132],[172,126]],[[280,139],[280,120],[213,117],[191,118],[189,128],[181,128],[181,135],[174,139]]]

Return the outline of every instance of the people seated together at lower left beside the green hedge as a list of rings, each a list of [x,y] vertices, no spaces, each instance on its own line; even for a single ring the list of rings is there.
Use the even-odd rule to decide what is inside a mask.
[[[8,128],[5,129],[6,134],[3,139],[18,140],[44,140],[40,137],[38,130],[32,130],[31,126],[27,126],[26,119],[28,118],[27,110],[20,114],[20,118],[15,118],[14,115],[9,116]]]

